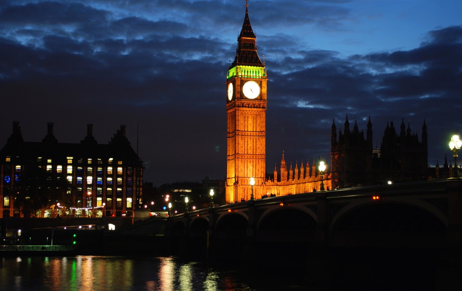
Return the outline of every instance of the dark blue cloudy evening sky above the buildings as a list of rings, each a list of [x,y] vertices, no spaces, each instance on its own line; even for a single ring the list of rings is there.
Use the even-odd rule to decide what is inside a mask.
[[[19,121],[39,142],[98,143],[127,126],[145,181],[225,178],[226,72],[244,0],[0,1],[0,147]],[[461,0],[250,0],[266,62],[267,172],[329,157],[348,114],[374,145],[387,122],[442,165],[462,134]],[[137,127],[139,138],[137,142]],[[329,160],[328,160],[329,162]]]

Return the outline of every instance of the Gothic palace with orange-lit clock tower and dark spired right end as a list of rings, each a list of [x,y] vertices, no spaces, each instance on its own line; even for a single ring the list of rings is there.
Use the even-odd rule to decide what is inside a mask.
[[[264,59],[263,59],[264,60]],[[421,141],[410,125],[401,122],[399,132],[393,122],[385,128],[380,148],[373,147],[372,123],[366,133],[358,125],[350,129],[346,117],[343,131],[335,122],[331,128],[330,169],[318,170],[319,160],[295,168],[284,160],[278,172],[265,176],[267,71],[257,53],[256,36],[249,20],[248,5],[237,38],[236,56],[226,78],[227,174],[226,202],[307,193],[321,189],[358,187],[392,182],[428,179],[427,129],[424,120]],[[324,161],[327,165],[327,161]],[[255,184],[251,185],[251,178]]]

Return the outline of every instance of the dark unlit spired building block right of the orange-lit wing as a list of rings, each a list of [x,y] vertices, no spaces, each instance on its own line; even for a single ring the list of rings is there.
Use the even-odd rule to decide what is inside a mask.
[[[380,148],[373,148],[371,118],[367,130],[359,131],[355,121],[350,130],[348,116],[343,132],[335,121],[331,127],[331,173],[333,188],[348,188],[427,180],[428,152],[427,126],[422,125],[421,141],[411,131],[409,123],[401,121],[396,132],[393,121],[385,128]]]

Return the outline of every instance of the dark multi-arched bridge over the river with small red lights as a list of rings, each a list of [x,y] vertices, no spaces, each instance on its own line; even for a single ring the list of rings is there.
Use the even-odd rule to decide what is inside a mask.
[[[372,260],[374,267],[382,267],[381,274],[391,269],[409,273],[412,268],[420,276],[440,272],[434,268],[442,265],[438,260],[444,256],[445,266],[459,260],[460,272],[462,179],[231,203],[172,216],[169,228],[176,248],[215,261],[303,264],[303,272],[311,275],[321,275],[326,261],[335,260],[349,272],[354,271],[346,262],[356,262],[360,272],[374,277],[366,267]]]

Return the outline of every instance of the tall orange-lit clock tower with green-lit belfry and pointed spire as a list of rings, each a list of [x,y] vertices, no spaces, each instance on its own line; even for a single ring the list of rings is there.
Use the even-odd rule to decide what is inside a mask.
[[[266,150],[266,69],[245,5],[244,24],[237,38],[236,58],[226,76],[227,169],[226,202],[240,202],[264,192]],[[255,185],[250,185],[254,178]]]

